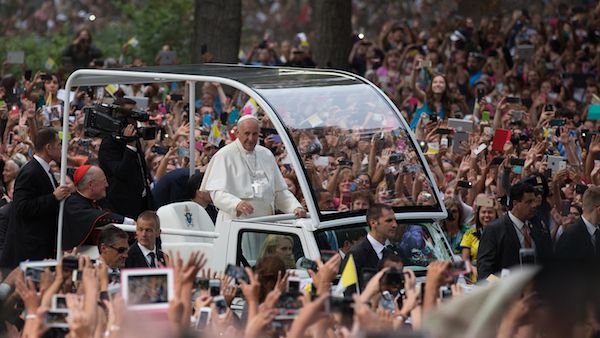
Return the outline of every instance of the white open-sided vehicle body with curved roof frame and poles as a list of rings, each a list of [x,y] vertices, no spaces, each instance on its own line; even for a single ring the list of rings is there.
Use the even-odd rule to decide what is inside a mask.
[[[359,132],[364,131],[364,133],[369,133],[368,135],[381,133],[382,142],[384,134],[389,134],[392,139],[402,140],[402,149],[406,154],[412,154],[413,165],[419,166],[421,175],[427,181],[430,203],[421,205],[412,201],[413,205],[396,207],[394,208],[396,219],[399,224],[418,228],[414,233],[422,234],[421,238],[417,240],[421,245],[420,248],[423,249],[427,246],[429,253],[435,251],[431,255],[431,259],[449,259],[451,257],[449,245],[440,226],[436,223],[437,220],[445,218],[447,212],[414,135],[409,131],[406,121],[389,98],[373,84],[359,76],[341,71],[317,69],[182,65],[126,70],[78,70],[69,77],[66,88],[71,90],[77,86],[176,81],[189,83],[190,102],[195,101],[197,82],[205,81],[219,82],[241,90],[252,97],[262,108],[265,116],[272,121],[278,135],[281,136],[281,141],[288,154],[289,165],[296,172],[309,213],[304,219],[295,219],[291,214],[280,214],[213,225],[204,209],[192,202],[167,205],[158,210],[161,218],[163,250],[179,251],[184,256],[194,250],[200,250],[209,258],[209,267],[213,271],[223,271],[227,264],[253,265],[255,263],[260,248],[248,241],[244,237],[245,234],[252,234],[254,237],[257,234],[290,236],[294,239],[296,258],[304,257],[315,260],[321,256],[323,250],[328,250],[323,245],[327,232],[339,237],[347,229],[364,228],[366,226],[364,210],[362,212],[337,212],[319,209],[315,187],[311,186],[303,164],[302,150],[292,137],[292,134],[298,130],[322,131],[323,128],[336,128],[336,121],[348,117],[346,115],[337,116],[336,114],[339,112],[310,110],[311,107],[322,107],[320,103],[315,104],[316,101],[322,99],[337,102],[340,105],[350,104],[352,107],[357,107],[357,115],[353,116],[354,118],[357,116],[362,118],[361,114],[367,114],[366,111],[360,111],[361,109],[374,111],[373,114],[371,114],[372,112],[368,113],[373,118],[363,123],[361,127],[363,129],[359,128]],[[303,100],[307,100],[307,102],[303,102]],[[284,106],[288,103],[296,110],[302,108],[302,111],[285,111],[287,108]],[[367,105],[365,106],[363,103]],[[69,104],[68,101],[65,102],[65,112],[69,111]],[[191,139],[194,137],[195,128],[194,106],[190,105],[189,113]],[[297,115],[300,113],[304,114],[305,118],[297,119]],[[344,121],[340,123],[348,125]],[[63,125],[63,133],[66,134],[68,132],[68,114],[64,114]],[[341,130],[349,127],[339,128]],[[398,147],[400,148],[400,143]],[[67,142],[63,142],[61,183],[64,183],[67,168],[66,151]],[[190,157],[190,163],[195,163],[194,142],[190,142]],[[192,171],[193,168],[190,172]],[[59,253],[61,252],[62,211],[61,205],[57,248]],[[135,229],[133,226],[123,225],[121,227],[127,231]],[[330,245],[329,249],[332,247],[333,245]],[[90,249],[94,250],[94,248]],[[418,259],[416,261],[419,263],[411,264],[409,262],[407,265],[415,265],[416,270],[424,269],[427,262]]]

